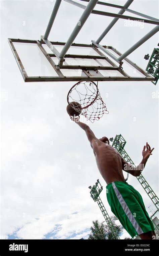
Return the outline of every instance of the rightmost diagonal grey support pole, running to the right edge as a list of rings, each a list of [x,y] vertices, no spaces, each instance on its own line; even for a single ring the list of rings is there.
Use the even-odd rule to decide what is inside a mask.
[[[159,31],[159,25],[157,25],[153,30],[151,30],[148,34],[146,34],[143,38],[141,38],[136,44],[134,44],[131,48],[129,48],[126,52],[124,52],[119,58],[119,61],[122,61],[125,57],[127,57],[131,52],[134,52],[140,45],[145,43],[150,37],[155,35]]]

